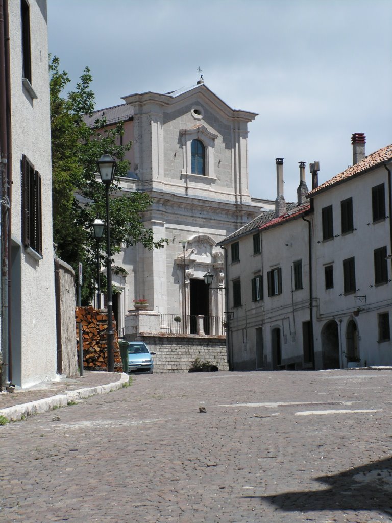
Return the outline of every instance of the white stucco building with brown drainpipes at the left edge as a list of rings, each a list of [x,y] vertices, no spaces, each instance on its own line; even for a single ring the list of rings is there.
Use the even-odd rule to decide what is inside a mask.
[[[4,385],[56,375],[46,4],[3,2],[6,42],[9,28],[9,49],[6,43],[0,51],[6,62],[0,79],[0,113],[6,115],[0,146],[7,161],[1,195]]]

